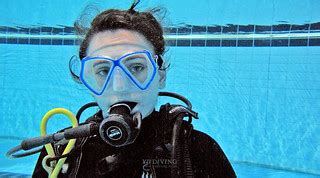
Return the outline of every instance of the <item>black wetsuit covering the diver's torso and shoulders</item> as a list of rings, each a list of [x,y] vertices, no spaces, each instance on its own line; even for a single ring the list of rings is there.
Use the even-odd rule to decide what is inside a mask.
[[[171,177],[171,168],[178,164],[176,160],[170,159],[173,123],[166,122],[167,111],[165,107],[161,108],[160,112],[154,111],[143,119],[141,132],[131,145],[115,148],[99,136],[78,139],[78,146],[65,162],[68,169],[60,171],[58,177]],[[100,117],[101,112],[98,112],[87,122]],[[183,122],[181,128],[187,126],[187,122]],[[186,143],[189,144],[195,177],[236,177],[230,162],[214,139],[196,130],[191,130],[188,138]],[[63,147],[56,148],[62,152]],[[39,156],[33,177],[48,177],[41,166],[44,156],[45,149]]]

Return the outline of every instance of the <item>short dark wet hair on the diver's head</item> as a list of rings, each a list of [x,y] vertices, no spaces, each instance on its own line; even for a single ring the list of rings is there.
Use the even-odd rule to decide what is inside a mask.
[[[136,4],[133,4],[128,10],[109,9],[98,14],[88,30],[84,30],[83,26],[75,23],[75,29],[78,33],[86,31],[85,37],[80,45],[79,58],[86,56],[87,49],[92,37],[106,30],[126,29],[142,34],[153,46],[155,55],[157,55],[159,70],[166,70],[163,64],[162,55],[165,51],[165,41],[163,37],[163,29],[161,24],[154,17],[154,13],[160,11],[155,8],[146,12],[138,12],[134,10]]]

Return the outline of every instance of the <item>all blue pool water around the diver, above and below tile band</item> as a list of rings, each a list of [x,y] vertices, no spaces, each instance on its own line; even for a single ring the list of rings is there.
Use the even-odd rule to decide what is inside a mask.
[[[71,26],[87,4],[125,8],[128,2],[4,1],[0,26]],[[170,20],[164,23],[173,26],[320,22],[312,0],[144,1],[140,8],[154,5],[168,9]],[[297,11],[299,16],[293,15]],[[165,91],[190,99],[201,118],[195,128],[218,141],[239,177],[320,177],[319,46],[170,47]],[[76,113],[93,101],[68,72],[77,50],[73,45],[0,44],[0,176],[32,173],[37,156],[8,160],[4,154],[21,139],[38,136],[48,110],[64,107]],[[159,104],[167,101],[160,98]],[[69,121],[57,116],[48,130],[67,126]]]

